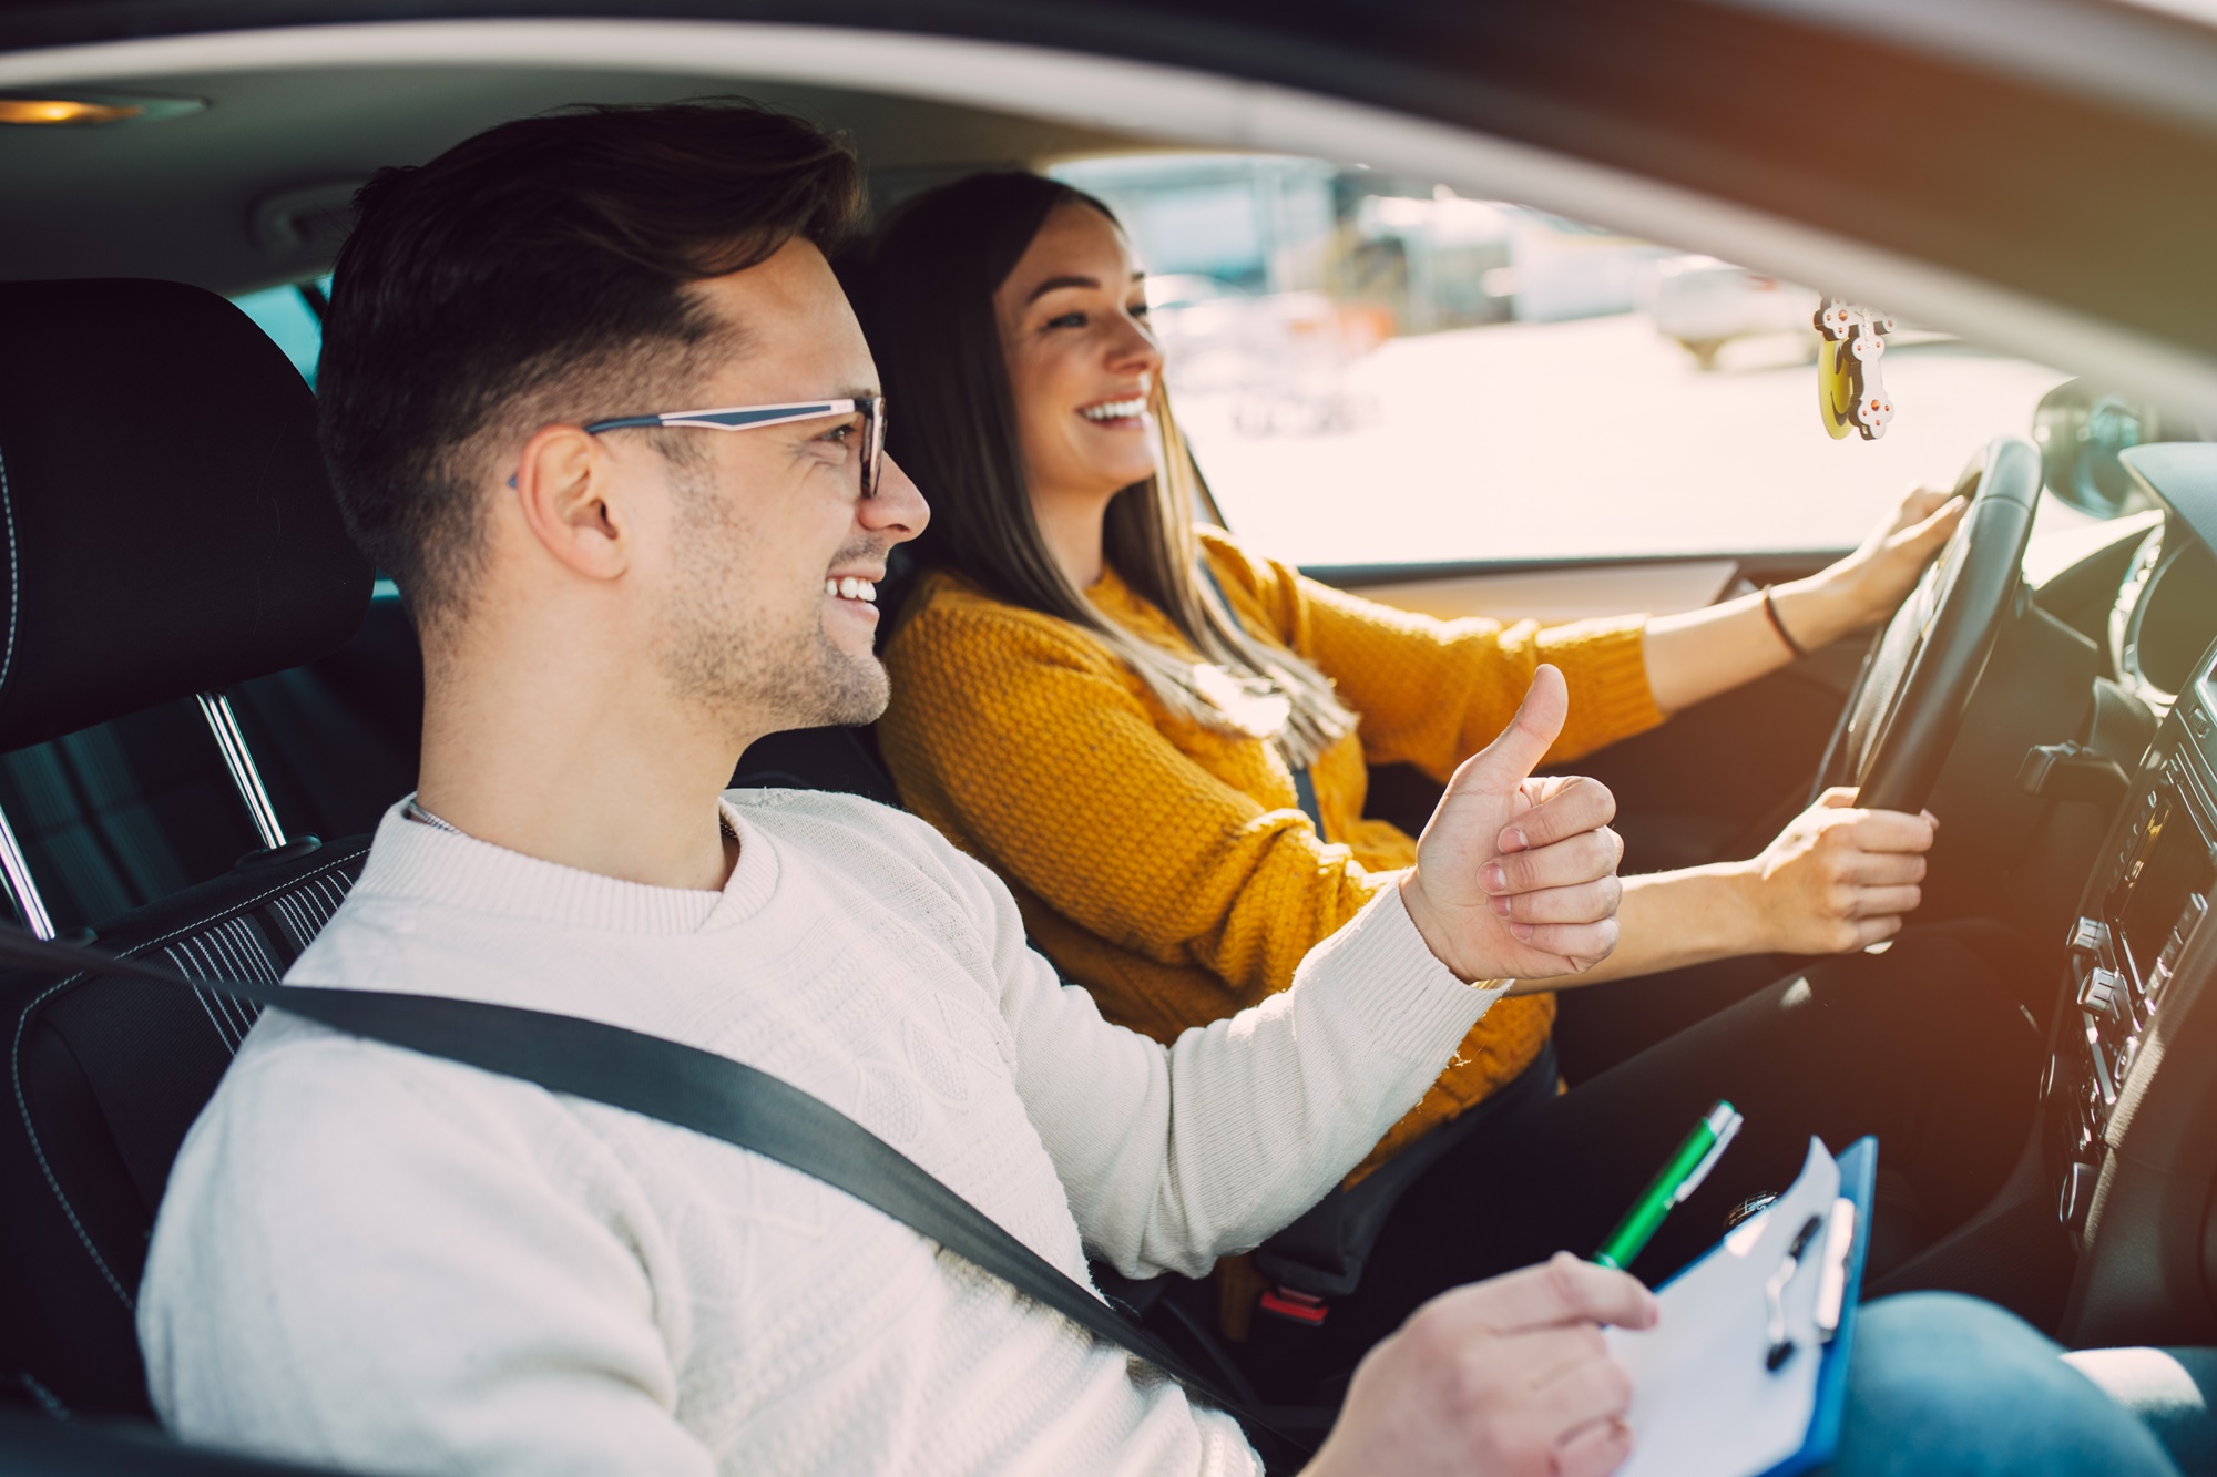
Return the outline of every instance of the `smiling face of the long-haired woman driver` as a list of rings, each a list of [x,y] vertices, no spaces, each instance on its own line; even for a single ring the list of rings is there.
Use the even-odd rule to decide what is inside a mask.
[[[1153,477],[1146,397],[1162,350],[1124,233],[1091,206],[1055,206],[993,310],[1033,501],[1106,501]]]

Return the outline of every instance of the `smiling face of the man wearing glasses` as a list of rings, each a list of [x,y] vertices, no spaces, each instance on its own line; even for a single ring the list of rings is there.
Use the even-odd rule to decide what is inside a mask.
[[[736,328],[698,408],[878,393],[862,328],[809,242],[694,291]],[[860,497],[860,415],[661,435],[696,441],[665,464],[667,523],[652,554],[667,592],[654,648],[678,699],[754,732],[873,721],[887,701],[873,597],[887,550],[929,517],[916,483],[887,461],[876,495]]]

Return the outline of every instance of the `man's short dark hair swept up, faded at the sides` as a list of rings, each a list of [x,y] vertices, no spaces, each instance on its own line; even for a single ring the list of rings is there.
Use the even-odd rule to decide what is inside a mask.
[[[379,171],[339,251],[317,399],[346,523],[417,625],[468,601],[501,441],[685,408],[663,401],[727,346],[685,286],[796,237],[829,255],[860,211],[842,140],[745,104],[525,118]]]

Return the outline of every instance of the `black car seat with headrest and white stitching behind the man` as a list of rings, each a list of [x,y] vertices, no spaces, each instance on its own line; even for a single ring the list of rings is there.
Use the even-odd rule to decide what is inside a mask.
[[[324,481],[313,397],[253,322],[177,284],[42,282],[0,286],[0,750],[219,694],[348,641],[370,568]],[[211,699],[211,712],[228,705]],[[237,758],[242,792],[255,790],[251,754]],[[284,841],[270,825],[282,845],[126,911],[100,943],[188,976],[282,974],[368,843]],[[0,874],[35,920],[4,829]],[[149,1413],[133,1335],[146,1237],[248,1025],[197,991],[0,976],[0,1388]]]

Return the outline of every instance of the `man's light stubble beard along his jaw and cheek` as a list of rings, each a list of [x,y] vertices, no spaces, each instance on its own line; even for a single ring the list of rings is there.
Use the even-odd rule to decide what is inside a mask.
[[[754,532],[729,503],[672,470],[676,561],[656,659],[676,694],[734,732],[873,723],[891,683],[876,654],[842,652],[823,628],[823,605],[776,623],[745,608],[729,570]],[[840,550],[834,566],[882,561],[885,550]]]

